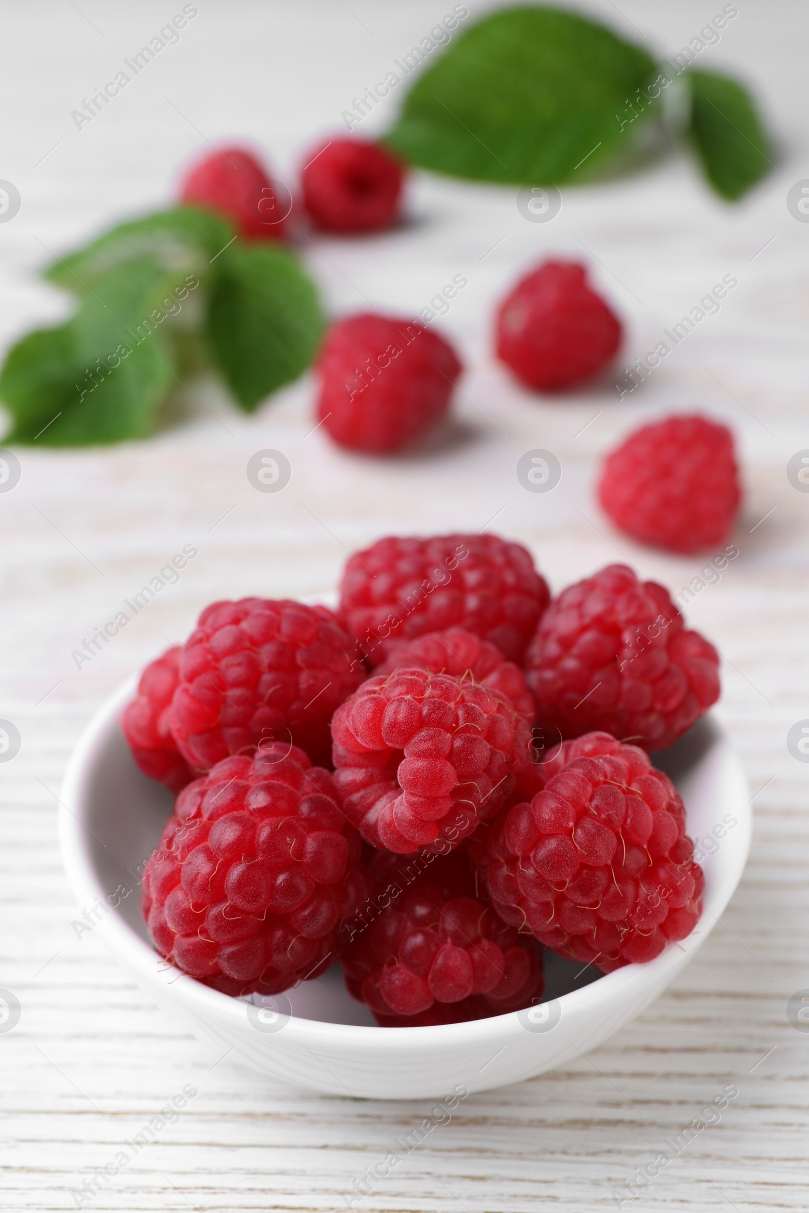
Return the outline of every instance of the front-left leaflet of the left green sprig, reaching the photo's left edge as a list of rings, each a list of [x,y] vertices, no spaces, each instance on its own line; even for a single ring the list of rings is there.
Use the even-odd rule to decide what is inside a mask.
[[[0,374],[13,417],[5,442],[76,446],[142,438],[173,383],[160,307],[178,274],[150,257],[93,279],[72,320],[23,337]],[[163,319],[160,319],[163,317]]]

